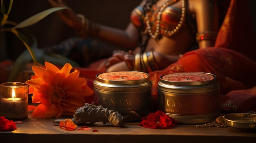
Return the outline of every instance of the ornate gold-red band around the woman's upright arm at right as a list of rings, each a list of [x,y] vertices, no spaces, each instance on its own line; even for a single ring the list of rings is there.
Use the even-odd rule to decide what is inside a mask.
[[[217,38],[217,34],[217,32],[213,31],[204,31],[201,33],[196,33],[196,42],[201,42],[202,40],[215,41]]]

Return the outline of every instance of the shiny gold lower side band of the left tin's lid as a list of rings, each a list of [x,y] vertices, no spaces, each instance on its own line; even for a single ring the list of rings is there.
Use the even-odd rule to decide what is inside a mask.
[[[114,85],[114,84],[104,84],[94,80],[93,87],[96,88],[97,90],[104,90],[104,91],[134,92],[134,91],[143,91],[143,90],[151,89],[152,82],[148,81],[141,84]]]

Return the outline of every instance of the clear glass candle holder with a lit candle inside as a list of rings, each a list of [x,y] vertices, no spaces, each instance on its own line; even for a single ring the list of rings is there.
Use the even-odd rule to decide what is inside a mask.
[[[20,82],[0,84],[0,115],[11,120],[27,119],[28,86]]]

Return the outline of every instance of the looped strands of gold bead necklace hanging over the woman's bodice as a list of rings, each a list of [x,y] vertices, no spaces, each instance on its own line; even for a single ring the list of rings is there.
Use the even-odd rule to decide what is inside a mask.
[[[145,15],[145,20],[146,20],[146,29],[145,32],[148,33],[150,35],[150,37],[152,38],[157,38],[159,37],[159,32],[161,32],[161,28],[160,28],[160,20],[161,20],[161,15],[162,12],[164,11],[164,9],[166,7],[168,7],[169,5],[172,5],[176,2],[178,2],[179,0],[166,0],[162,6],[160,7],[158,13],[157,13],[157,20],[156,20],[156,30],[155,33],[152,32],[151,29],[151,25],[150,25],[150,20],[149,20],[149,14],[148,12]],[[177,24],[177,26],[175,26],[175,28],[173,28],[173,30],[168,31],[168,30],[164,30],[162,31],[162,35],[165,35],[167,37],[171,37],[172,35],[174,35],[175,33],[177,33],[177,31],[179,31],[180,27],[184,24],[184,20],[185,20],[185,13],[186,13],[186,2],[185,0],[181,0],[181,7],[182,7],[182,14],[181,14],[181,18],[180,18],[180,22],[179,24]],[[147,10],[150,10],[150,7],[147,7]]]

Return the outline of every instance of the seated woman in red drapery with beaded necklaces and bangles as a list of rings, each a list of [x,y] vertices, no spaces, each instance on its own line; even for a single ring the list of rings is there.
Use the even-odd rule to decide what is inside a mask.
[[[220,97],[222,110],[235,112],[255,110],[256,57],[251,47],[256,46],[256,37],[252,31],[252,21],[245,16],[249,14],[246,1],[231,0],[216,43],[214,40],[215,32],[218,31],[218,15],[213,12],[216,10],[215,1],[166,2],[163,4],[162,0],[143,1],[141,6],[132,12],[131,19],[134,24],[129,24],[126,31],[100,26],[100,30],[93,34],[89,33],[129,49],[135,49],[139,44],[139,35],[143,35],[139,46],[145,48],[142,51],[146,54],[117,53],[108,60],[110,66],[108,70],[128,70],[134,66],[135,70],[150,72],[168,66],[164,70],[149,73],[153,81],[153,99],[157,98],[157,82],[161,75],[189,71],[213,73],[220,82],[221,95],[225,95]],[[178,9],[181,9],[181,14],[177,19],[175,16],[179,15]],[[193,18],[192,12],[197,23],[200,49],[186,53],[190,50],[195,36],[189,30],[191,24],[188,18],[189,15]],[[70,25],[80,31],[83,29],[82,23],[76,19],[76,22],[71,22]],[[136,29],[136,26],[139,29]],[[216,48],[206,48],[209,46]],[[186,54],[179,58],[183,53]],[[90,70],[82,68],[80,70],[84,77],[95,76]]]

